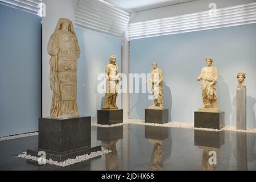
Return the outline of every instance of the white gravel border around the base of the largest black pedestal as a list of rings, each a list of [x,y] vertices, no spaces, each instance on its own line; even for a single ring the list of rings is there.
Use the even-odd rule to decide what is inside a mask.
[[[53,161],[52,159],[49,159],[49,160],[46,159],[45,162],[46,162],[46,164],[51,164],[51,165],[55,165],[55,166],[65,167],[65,166],[69,166],[69,165],[72,165],[72,164],[83,162],[85,160],[96,158],[97,156],[108,154],[109,152],[112,152],[112,151],[111,150],[106,150],[106,149],[102,148],[101,151],[92,152],[90,154],[85,154],[85,155],[77,156],[75,159],[67,159],[67,160],[64,160],[63,162]],[[27,159],[27,160],[34,160],[34,161],[38,161],[38,159],[39,159],[37,156],[27,155],[27,152],[23,152],[22,154],[19,154],[16,157]]]

